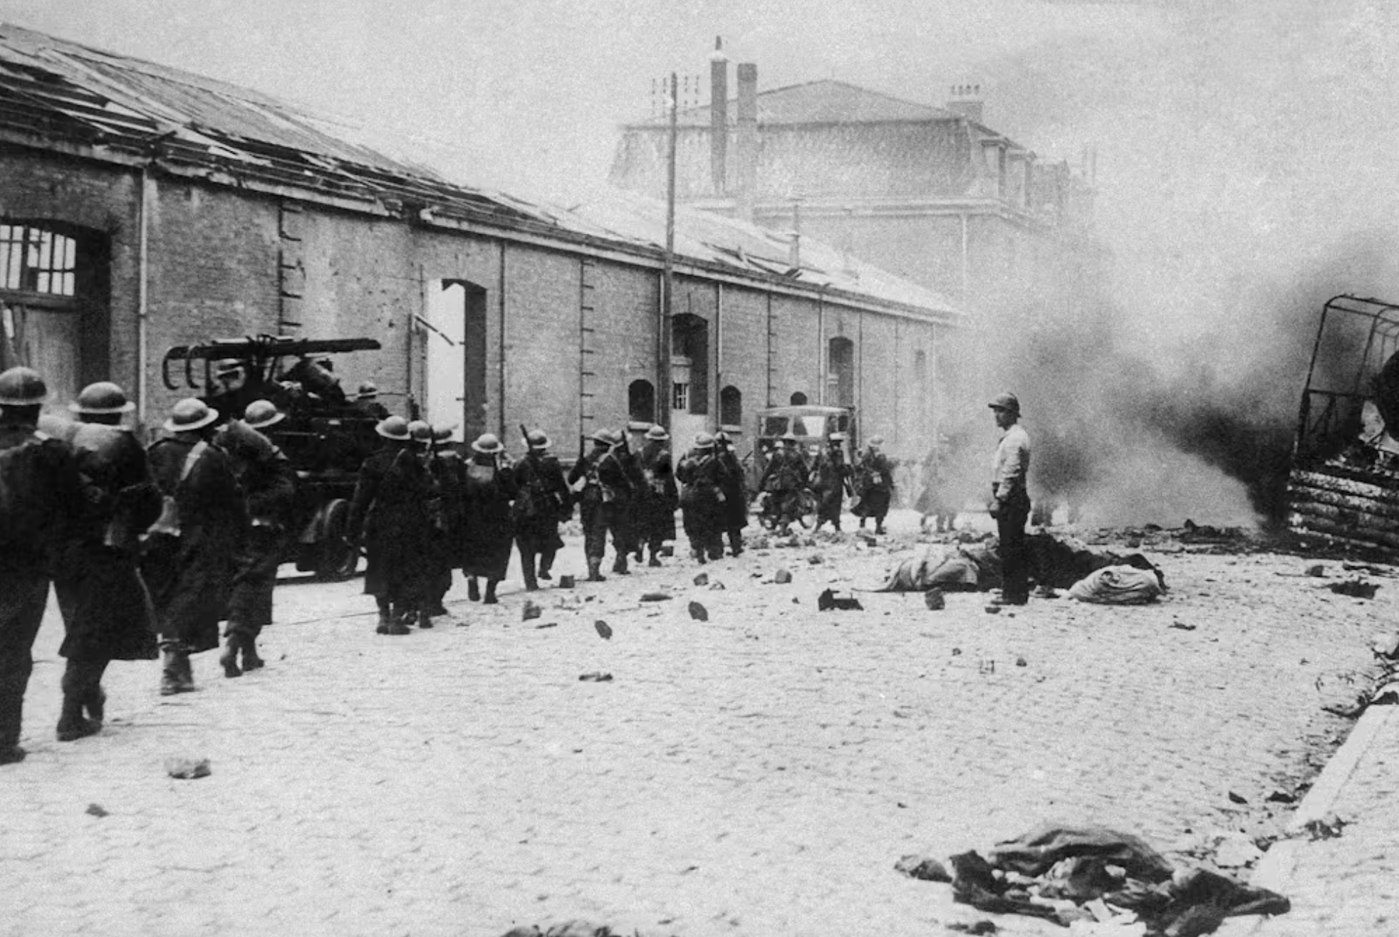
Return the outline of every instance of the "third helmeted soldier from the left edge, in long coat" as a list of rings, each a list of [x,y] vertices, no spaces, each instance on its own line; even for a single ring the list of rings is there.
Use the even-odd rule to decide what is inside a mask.
[[[211,443],[217,421],[217,410],[186,397],[165,421],[171,435],[147,450],[165,506],[147,531],[141,572],[155,604],[165,696],[193,691],[189,656],[218,648],[248,527],[232,462]]]

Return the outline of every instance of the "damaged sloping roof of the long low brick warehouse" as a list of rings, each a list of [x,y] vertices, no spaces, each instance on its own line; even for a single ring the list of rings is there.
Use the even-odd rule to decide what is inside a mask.
[[[428,224],[484,222],[652,260],[665,245],[663,203],[609,190],[564,210],[463,185],[257,91],[10,24],[0,24],[0,134],[99,159],[154,161],[215,185],[262,183],[368,203]],[[960,315],[937,294],[824,245],[803,242],[793,267],[786,239],[755,225],[683,211],[676,231],[679,260],[694,267]]]

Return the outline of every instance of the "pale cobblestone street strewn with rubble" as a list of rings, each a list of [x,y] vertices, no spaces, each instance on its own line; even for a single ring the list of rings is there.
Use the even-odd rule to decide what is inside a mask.
[[[459,582],[467,627],[404,638],[374,634],[358,580],[290,583],[264,670],[225,680],[201,655],[200,692],[161,698],[157,663],[113,664],[108,726],[71,744],[50,603],[29,758],[0,769],[0,933],[943,933],[985,915],[901,856],[1053,820],[1177,859],[1315,775],[1350,724],[1321,705],[1399,611],[1388,579],[1349,599],[1297,557],[1149,551],[1170,586],[1151,607],[858,593],[865,611],[818,613],[911,555],[901,520],[902,548],[750,551],[702,587],[674,559],[544,590],[530,621],[518,576],[495,607]],[[581,566],[571,543],[557,572]],[[639,601],[656,589],[673,599]],[[171,757],[211,776],[169,779]]]

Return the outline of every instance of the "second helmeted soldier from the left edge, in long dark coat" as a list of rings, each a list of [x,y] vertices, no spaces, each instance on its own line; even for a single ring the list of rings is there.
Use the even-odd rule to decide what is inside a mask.
[[[88,485],[77,536],[62,552],[53,592],[63,613],[59,653],[63,710],[59,741],[102,727],[102,674],[112,660],[154,660],[155,615],[140,573],[139,531],[159,513],[145,449],[122,425],[134,407],[109,382],[88,385],[69,408],[77,414],[71,443]]]

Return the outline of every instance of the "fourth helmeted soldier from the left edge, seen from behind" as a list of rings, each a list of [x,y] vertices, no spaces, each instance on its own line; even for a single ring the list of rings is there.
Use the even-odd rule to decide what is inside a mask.
[[[241,677],[264,664],[257,638],[271,624],[277,566],[285,550],[287,526],[297,498],[297,475],[285,453],[269,438],[285,420],[270,400],[248,404],[242,420],[229,420],[214,445],[228,453],[234,477],[248,501],[249,527],[236,555],[234,589],[228,599],[227,642],[218,663],[224,677]],[[242,667],[238,655],[242,653]]]

